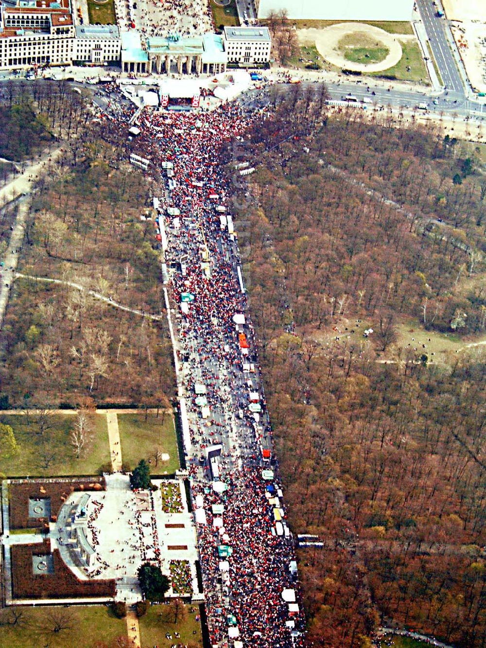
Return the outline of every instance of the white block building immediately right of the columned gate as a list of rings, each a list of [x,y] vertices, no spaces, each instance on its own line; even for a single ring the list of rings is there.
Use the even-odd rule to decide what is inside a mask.
[[[268,63],[272,39],[268,27],[225,27],[224,48],[228,63]]]

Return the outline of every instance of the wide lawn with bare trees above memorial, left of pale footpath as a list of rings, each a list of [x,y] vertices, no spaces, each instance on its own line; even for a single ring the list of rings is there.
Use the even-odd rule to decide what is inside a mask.
[[[91,439],[76,459],[71,444],[74,415],[52,417],[52,428],[38,434],[35,415],[2,416],[1,421],[11,425],[17,441],[15,457],[0,460],[0,472],[15,476],[95,475],[110,462],[110,445],[106,416],[89,415]],[[29,422],[28,422],[29,421]]]

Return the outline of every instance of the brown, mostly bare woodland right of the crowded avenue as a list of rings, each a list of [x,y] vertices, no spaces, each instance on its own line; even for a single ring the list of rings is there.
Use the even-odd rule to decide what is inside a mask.
[[[309,640],[368,645],[393,621],[479,647],[486,356],[398,331],[484,334],[481,175],[454,184],[467,155],[437,130],[282,101],[252,135],[260,207],[242,220],[290,524],[325,544],[298,552]]]

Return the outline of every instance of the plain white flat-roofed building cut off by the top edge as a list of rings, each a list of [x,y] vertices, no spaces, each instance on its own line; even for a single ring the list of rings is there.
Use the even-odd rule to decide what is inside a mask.
[[[255,13],[266,18],[285,9],[291,19],[307,20],[411,20],[414,0],[254,0]]]

